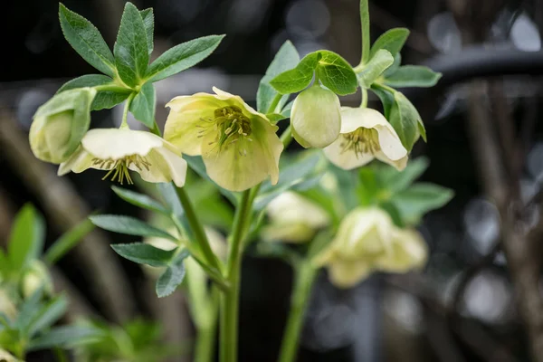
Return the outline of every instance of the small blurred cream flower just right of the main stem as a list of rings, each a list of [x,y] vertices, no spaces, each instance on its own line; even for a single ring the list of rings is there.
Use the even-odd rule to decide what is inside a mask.
[[[317,231],[330,223],[329,214],[305,197],[287,191],[266,208],[270,224],[262,228],[262,238],[286,243],[309,242]]]

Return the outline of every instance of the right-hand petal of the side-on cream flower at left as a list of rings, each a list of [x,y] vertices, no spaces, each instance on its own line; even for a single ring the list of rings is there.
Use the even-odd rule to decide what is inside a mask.
[[[148,182],[174,181],[177,187],[185,185],[186,160],[183,157],[167,148],[155,148],[148,154],[146,161],[150,164],[148,168],[139,168],[134,164],[129,168],[138,172],[141,178]]]

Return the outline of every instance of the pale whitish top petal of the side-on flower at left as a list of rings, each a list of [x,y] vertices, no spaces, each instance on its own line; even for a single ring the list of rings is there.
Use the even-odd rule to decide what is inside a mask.
[[[132,129],[90,129],[81,139],[86,151],[104,160],[130,155],[144,157],[151,149],[161,147],[163,142],[150,132]]]

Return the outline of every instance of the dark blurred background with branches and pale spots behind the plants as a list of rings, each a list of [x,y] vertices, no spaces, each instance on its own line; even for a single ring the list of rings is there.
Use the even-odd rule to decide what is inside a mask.
[[[159,123],[166,119],[168,100],[212,86],[254,104],[260,77],[288,39],[301,56],[329,49],[352,64],[359,60],[357,0],[133,2],[155,10],[154,57],[198,36],[227,34],[205,62],[156,84]],[[111,47],[124,3],[63,1],[97,25]],[[55,167],[30,153],[27,132],[34,111],[63,82],[96,72],[63,39],[57,11],[56,0],[2,2],[0,244],[7,240],[14,213],[28,201],[43,212],[50,241],[91,211],[138,213],[113,195],[100,173],[58,178]],[[424,155],[431,162],[423,179],[452,188],[455,197],[428,214],[421,226],[431,250],[423,275],[376,275],[350,291],[338,291],[326,275],[319,277],[299,359],[527,361],[529,335],[521,316],[529,311],[522,310],[522,302],[517,308],[519,290],[513,289],[510,269],[516,268],[519,280],[533,277],[527,282],[535,285],[525,288],[540,298],[540,252],[534,247],[514,259],[510,238],[519,236],[513,242],[530,245],[541,239],[543,1],[370,0],[370,15],[373,40],[389,28],[408,27],[412,33],[402,52],[404,63],[443,71],[438,87],[405,94],[419,108],[427,129],[428,143],[414,148],[414,157]],[[359,94],[342,101],[354,105],[358,99]],[[119,124],[121,112],[94,112],[92,127]],[[157,319],[167,340],[189,340],[192,326],[183,296],[157,300],[153,282],[108,247],[130,241],[125,235],[95,231],[62,260],[53,274],[70,291],[71,312],[99,314],[115,323],[135,316]],[[513,245],[504,248],[515,260],[511,267],[500,241]],[[531,274],[522,274],[524,264]],[[290,289],[286,265],[247,256],[241,361],[275,360]],[[520,298],[530,297],[520,291]],[[29,360],[45,358],[38,354]]]

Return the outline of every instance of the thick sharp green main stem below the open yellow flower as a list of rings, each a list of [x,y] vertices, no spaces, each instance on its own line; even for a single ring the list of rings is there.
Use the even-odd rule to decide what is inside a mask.
[[[242,266],[243,235],[249,221],[252,205],[252,192],[243,192],[242,200],[233,221],[232,240],[228,255],[226,278],[229,291],[221,296],[221,362],[237,362],[238,315],[240,296],[240,273]]]

